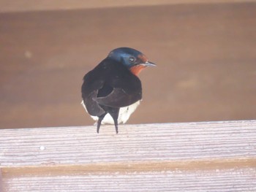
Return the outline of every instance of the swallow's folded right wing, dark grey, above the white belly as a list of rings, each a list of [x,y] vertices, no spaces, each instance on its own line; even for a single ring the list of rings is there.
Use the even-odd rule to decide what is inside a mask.
[[[113,88],[108,96],[94,98],[94,101],[109,107],[126,107],[142,98],[141,90],[133,92],[128,94],[123,88]]]

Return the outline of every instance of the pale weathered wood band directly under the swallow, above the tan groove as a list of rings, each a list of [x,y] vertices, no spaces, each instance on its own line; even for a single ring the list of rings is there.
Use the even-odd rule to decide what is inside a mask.
[[[256,156],[256,121],[0,130],[1,166],[180,161]]]

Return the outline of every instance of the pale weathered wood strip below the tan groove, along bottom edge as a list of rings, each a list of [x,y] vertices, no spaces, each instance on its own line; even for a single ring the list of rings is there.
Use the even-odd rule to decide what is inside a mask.
[[[256,191],[255,169],[5,177],[4,191]]]

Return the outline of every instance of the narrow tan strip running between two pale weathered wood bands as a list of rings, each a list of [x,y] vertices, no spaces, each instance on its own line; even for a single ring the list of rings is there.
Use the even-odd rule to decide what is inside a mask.
[[[45,165],[45,166],[17,166],[2,167],[4,177],[11,175],[70,175],[70,174],[96,174],[97,172],[167,172],[175,170],[211,170],[211,169],[244,169],[256,168],[255,158],[205,159],[199,161],[143,161],[118,162],[106,164],[80,164],[80,165]]]

